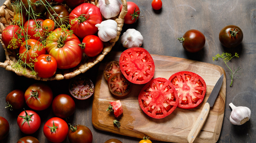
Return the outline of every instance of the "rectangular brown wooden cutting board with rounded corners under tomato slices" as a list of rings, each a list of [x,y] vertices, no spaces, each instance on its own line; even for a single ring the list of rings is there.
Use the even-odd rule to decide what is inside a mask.
[[[107,81],[103,77],[103,70],[108,61],[119,61],[120,55],[121,52],[109,53],[99,65],[92,109],[92,123],[95,128],[137,138],[143,138],[148,135],[151,140],[187,142],[187,135],[192,125],[199,116],[217,80],[224,73],[219,95],[213,107],[210,108],[208,118],[201,132],[194,141],[200,143],[217,142],[222,128],[226,98],[226,76],[222,67],[184,58],[151,55],[156,66],[153,78],[163,77],[169,79],[176,72],[191,71],[200,75],[206,83],[206,94],[203,102],[198,107],[194,109],[177,107],[169,116],[162,119],[154,119],[146,115],[139,106],[138,95],[145,84],[134,84],[131,93],[124,97],[117,97],[109,92]],[[109,102],[116,100],[120,100],[123,107],[123,114],[118,118],[114,116],[113,112],[106,111]],[[114,119],[120,121],[120,128],[114,126]]]

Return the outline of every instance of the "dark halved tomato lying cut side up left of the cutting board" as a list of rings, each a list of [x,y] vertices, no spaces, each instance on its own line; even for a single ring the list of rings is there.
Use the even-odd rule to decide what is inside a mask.
[[[87,99],[94,93],[93,82],[84,76],[74,77],[69,83],[69,92],[76,99]]]

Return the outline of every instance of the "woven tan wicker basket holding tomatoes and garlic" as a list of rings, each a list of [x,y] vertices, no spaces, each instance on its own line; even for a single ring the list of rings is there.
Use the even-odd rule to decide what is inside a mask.
[[[98,0],[85,0],[87,3],[94,4],[98,7]],[[18,53],[17,49],[16,50],[10,50],[7,49],[7,47],[4,45],[2,42],[2,32],[7,27],[8,25],[11,25],[13,21],[13,16],[15,13],[13,12],[13,8],[11,5],[10,0],[6,0],[3,6],[0,7],[0,42],[5,50],[5,55],[6,55],[6,60],[4,63],[0,62],[0,67],[5,68],[8,71],[13,71],[17,75],[20,76],[25,76],[27,78],[34,78],[35,80],[42,80],[42,81],[47,81],[47,80],[62,80],[62,79],[70,79],[75,77],[76,75],[80,73],[84,73],[90,68],[92,68],[95,64],[98,62],[102,61],[104,56],[106,56],[112,49],[112,47],[115,45],[116,41],[119,38],[119,35],[121,33],[123,24],[124,24],[124,16],[127,13],[127,2],[126,0],[121,0],[123,4],[123,8],[120,12],[120,14],[117,17],[111,18],[117,22],[117,36],[114,39],[111,39],[108,42],[104,43],[104,48],[101,54],[95,57],[84,57],[80,64],[76,66],[75,68],[71,69],[66,69],[66,70],[60,70],[57,69],[55,75],[53,75],[50,78],[41,78],[39,76],[31,75],[31,69],[27,68],[27,74],[23,74],[22,71],[17,71],[11,67],[12,64],[17,63],[18,59],[16,58],[16,55]]]

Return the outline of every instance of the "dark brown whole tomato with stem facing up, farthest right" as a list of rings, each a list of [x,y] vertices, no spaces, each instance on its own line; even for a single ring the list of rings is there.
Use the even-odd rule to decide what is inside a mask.
[[[236,47],[243,41],[243,38],[243,31],[236,25],[225,26],[219,34],[221,44],[227,48]]]

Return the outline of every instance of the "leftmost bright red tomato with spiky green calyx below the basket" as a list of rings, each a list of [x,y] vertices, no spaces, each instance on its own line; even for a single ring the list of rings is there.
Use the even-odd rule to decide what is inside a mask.
[[[39,129],[41,119],[34,111],[24,110],[19,114],[17,124],[24,134],[33,134]]]

